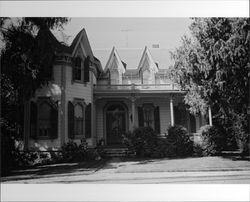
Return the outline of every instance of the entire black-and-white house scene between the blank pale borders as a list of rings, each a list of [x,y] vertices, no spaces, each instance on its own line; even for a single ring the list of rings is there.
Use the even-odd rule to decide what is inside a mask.
[[[1,184],[250,184],[249,17],[1,17]]]

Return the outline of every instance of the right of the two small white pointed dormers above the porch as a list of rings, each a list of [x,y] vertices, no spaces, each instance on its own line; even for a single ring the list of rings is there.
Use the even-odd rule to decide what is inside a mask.
[[[158,71],[159,69],[155,61],[153,60],[149,49],[146,46],[138,65],[138,72],[142,84],[155,84],[155,74]]]

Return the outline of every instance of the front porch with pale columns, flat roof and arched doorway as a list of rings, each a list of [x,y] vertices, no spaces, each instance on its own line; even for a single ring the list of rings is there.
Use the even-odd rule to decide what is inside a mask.
[[[195,133],[207,123],[205,116],[193,116],[184,105],[184,91],[173,84],[96,85],[96,140],[117,147],[122,135],[134,128],[150,126],[165,134],[169,126],[185,126]]]

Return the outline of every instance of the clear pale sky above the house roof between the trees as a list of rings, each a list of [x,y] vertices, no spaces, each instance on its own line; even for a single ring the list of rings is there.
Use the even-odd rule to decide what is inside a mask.
[[[71,18],[63,32],[69,42],[85,28],[93,50],[144,48],[158,44],[174,49],[181,37],[189,33],[189,18]]]

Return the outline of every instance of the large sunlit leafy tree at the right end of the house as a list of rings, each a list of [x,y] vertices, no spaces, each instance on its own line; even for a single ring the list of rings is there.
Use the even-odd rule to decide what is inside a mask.
[[[171,75],[193,113],[211,106],[213,122],[244,144],[249,140],[250,19],[195,18],[191,37],[171,53]],[[241,140],[240,140],[241,139]],[[245,144],[246,145],[246,144]]]

